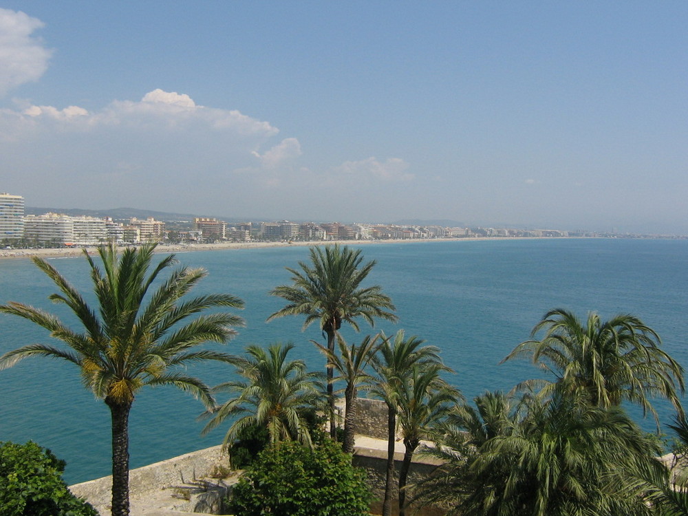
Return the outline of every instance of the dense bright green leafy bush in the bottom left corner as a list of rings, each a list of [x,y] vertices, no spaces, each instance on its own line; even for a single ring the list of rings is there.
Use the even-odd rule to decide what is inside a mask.
[[[65,462],[35,442],[0,442],[2,516],[98,516],[62,480]]]

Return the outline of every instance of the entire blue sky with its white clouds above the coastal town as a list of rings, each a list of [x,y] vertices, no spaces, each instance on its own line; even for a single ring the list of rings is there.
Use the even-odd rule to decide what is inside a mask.
[[[688,3],[0,3],[29,206],[688,234]]]

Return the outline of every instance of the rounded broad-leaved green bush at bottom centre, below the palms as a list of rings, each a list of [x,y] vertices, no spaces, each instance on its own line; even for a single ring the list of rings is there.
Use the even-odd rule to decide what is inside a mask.
[[[314,449],[279,442],[262,451],[233,491],[237,516],[367,516],[363,470],[325,440]]]

